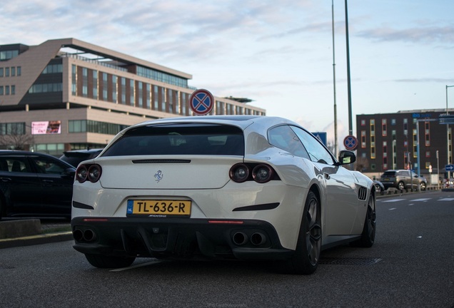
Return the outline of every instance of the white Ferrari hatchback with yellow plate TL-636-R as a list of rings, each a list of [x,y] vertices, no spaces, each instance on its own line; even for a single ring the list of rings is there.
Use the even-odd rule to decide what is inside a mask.
[[[322,250],[375,240],[375,187],[354,161],[284,118],[133,125],[76,171],[74,248],[94,267],[218,257],[311,274]]]

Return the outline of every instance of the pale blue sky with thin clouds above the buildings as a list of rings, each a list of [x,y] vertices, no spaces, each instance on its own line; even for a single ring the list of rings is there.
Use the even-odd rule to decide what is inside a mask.
[[[454,108],[454,1],[348,0],[347,11],[348,36],[345,0],[3,1],[0,44],[93,43],[250,98],[328,143],[336,101],[340,148],[358,114],[444,109],[447,96]]]

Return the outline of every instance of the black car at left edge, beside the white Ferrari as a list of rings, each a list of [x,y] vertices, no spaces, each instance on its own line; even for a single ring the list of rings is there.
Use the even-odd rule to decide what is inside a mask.
[[[0,150],[0,219],[70,219],[75,173],[73,166],[51,155]]]

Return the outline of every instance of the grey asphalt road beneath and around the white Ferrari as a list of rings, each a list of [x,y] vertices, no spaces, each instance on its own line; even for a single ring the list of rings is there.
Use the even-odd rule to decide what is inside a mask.
[[[377,202],[371,248],[323,252],[315,274],[263,262],[91,267],[72,241],[0,250],[1,307],[454,307],[454,193]]]

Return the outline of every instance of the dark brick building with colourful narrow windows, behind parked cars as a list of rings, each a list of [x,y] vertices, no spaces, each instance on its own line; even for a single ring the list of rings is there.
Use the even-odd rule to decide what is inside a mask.
[[[440,123],[443,114],[445,109],[357,115],[356,169],[370,178],[379,178],[385,170],[393,169],[411,169],[425,177],[440,174],[444,178],[445,165],[453,163],[453,155],[452,125]]]

